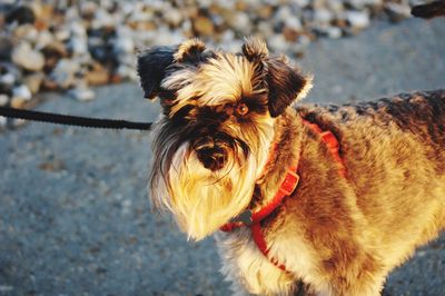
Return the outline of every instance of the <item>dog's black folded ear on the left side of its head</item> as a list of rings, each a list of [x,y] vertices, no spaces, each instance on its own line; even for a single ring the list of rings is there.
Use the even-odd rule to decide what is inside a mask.
[[[161,91],[160,83],[176,51],[177,47],[154,47],[139,55],[138,75],[145,98],[152,99]]]

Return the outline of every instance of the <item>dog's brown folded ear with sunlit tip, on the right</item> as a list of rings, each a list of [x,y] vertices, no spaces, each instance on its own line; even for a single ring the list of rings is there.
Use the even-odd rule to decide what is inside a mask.
[[[312,77],[303,76],[283,58],[268,59],[266,82],[270,116],[281,115],[290,103],[306,97],[313,87],[312,80]]]

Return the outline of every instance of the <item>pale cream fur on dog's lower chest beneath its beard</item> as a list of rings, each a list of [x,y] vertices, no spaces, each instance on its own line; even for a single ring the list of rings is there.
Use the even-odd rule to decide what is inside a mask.
[[[253,294],[287,295],[295,287],[298,279],[304,277],[314,280],[314,256],[298,236],[275,237],[266,241],[270,246],[270,258],[284,263],[287,272],[274,265],[255,244],[250,229],[240,228],[230,234],[216,235],[220,251],[222,268],[226,278],[238,282],[248,287]]]

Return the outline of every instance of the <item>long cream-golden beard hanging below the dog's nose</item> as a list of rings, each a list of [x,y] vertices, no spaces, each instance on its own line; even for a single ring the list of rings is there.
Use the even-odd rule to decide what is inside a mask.
[[[271,122],[264,124],[257,132],[248,154],[240,148],[231,150],[226,165],[217,171],[205,168],[188,142],[176,149],[168,162],[159,160],[161,156],[155,152],[151,198],[155,205],[174,213],[189,238],[206,237],[248,207],[271,146]],[[164,147],[162,151],[169,148]]]

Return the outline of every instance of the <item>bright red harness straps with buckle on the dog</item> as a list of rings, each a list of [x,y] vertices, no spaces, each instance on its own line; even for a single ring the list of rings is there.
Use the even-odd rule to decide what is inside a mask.
[[[338,174],[343,177],[346,177],[346,168],[339,155],[339,144],[335,135],[330,130],[325,130],[325,131],[322,130],[322,128],[318,125],[309,122],[305,119],[303,119],[303,124],[305,124],[313,130],[313,132],[317,134],[320,137],[320,140],[326,145],[334,160],[339,164]],[[274,144],[266,167],[271,161],[277,148],[278,145]],[[287,169],[287,172],[281,181],[281,185],[278,188],[278,191],[275,194],[274,198],[270,200],[269,204],[267,204],[266,206],[264,206],[263,208],[260,208],[255,213],[253,213],[250,209],[247,209],[244,213],[241,213],[238,217],[234,218],[231,221],[220,227],[220,230],[226,233],[233,231],[235,228],[243,226],[250,227],[253,238],[259,250],[275,266],[277,266],[283,270],[286,270],[286,267],[283,264],[278,263],[276,258],[270,258],[268,256],[269,248],[267,247],[267,243],[263,234],[260,223],[281,205],[283,199],[285,197],[290,196],[297,188],[299,181],[299,176],[297,174],[298,160],[296,162],[297,162],[296,165],[290,166]]]

